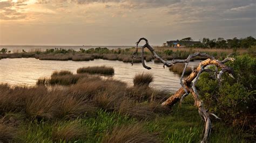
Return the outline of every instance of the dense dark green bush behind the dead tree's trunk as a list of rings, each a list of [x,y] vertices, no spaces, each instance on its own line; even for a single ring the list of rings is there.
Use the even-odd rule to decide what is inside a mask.
[[[234,79],[224,74],[219,82],[210,73],[203,73],[197,89],[211,112],[225,121],[233,121],[233,124],[245,124],[245,118],[249,123],[248,117],[253,117],[255,111],[256,58],[249,55],[234,58],[233,63],[226,63],[233,68]]]

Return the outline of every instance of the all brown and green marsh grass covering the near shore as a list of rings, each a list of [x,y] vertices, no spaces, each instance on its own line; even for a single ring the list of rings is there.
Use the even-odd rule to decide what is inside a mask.
[[[161,106],[170,93],[150,88],[151,74],[134,76],[133,87],[70,71],[55,71],[47,79],[52,84],[39,79],[36,87],[0,85],[0,141],[200,141],[204,123],[192,97],[172,109]],[[253,141],[244,127],[213,122],[211,142]]]

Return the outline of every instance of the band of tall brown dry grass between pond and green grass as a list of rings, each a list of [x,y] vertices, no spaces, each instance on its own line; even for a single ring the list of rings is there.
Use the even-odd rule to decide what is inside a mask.
[[[160,111],[158,105],[166,98],[167,92],[150,89],[147,87],[148,80],[144,86],[127,87],[126,83],[118,80],[80,75],[83,74],[55,71],[47,82],[70,85],[65,89],[49,90],[40,85],[14,88],[0,85],[0,111],[23,112],[29,119],[36,120],[73,119],[84,115],[91,117],[95,116],[97,108],[139,120],[154,119],[161,114],[155,109]],[[73,82],[76,76],[81,78]]]

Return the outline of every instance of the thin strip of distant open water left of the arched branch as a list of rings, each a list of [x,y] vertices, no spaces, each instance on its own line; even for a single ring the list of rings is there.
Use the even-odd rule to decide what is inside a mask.
[[[35,51],[46,51],[46,49],[51,48],[62,48],[62,49],[74,49],[75,51],[79,51],[80,48],[83,49],[90,49],[90,48],[97,48],[97,47],[106,47],[109,49],[117,49],[117,48],[131,48],[134,46],[0,46],[0,49],[6,48],[8,51],[11,51],[11,53],[20,53],[24,49],[26,52],[35,52]]]

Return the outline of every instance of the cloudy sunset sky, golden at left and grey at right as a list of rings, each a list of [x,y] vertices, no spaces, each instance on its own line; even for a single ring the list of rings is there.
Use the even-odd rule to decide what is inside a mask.
[[[256,38],[256,0],[0,0],[0,45]]]

